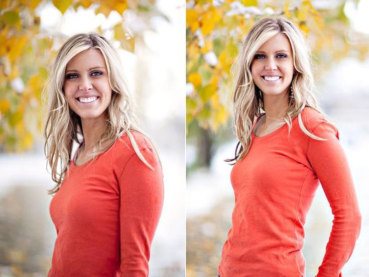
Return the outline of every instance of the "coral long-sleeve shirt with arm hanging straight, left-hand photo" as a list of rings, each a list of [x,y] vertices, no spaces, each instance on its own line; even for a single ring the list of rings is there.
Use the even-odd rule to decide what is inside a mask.
[[[132,134],[154,170],[139,159],[127,133],[92,163],[71,162],[50,204],[57,238],[48,277],[148,276],[163,175],[150,143]]]

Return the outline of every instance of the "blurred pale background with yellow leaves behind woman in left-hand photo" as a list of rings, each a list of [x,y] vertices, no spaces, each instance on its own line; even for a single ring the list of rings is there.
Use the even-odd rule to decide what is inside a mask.
[[[185,2],[5,0],[0,3],[0,276],[46,276],[55,227],[41,90],[70,36],[114,42],[165,184],[150,276],[185,271]],[[123,50],[125,49],[125,50]]]

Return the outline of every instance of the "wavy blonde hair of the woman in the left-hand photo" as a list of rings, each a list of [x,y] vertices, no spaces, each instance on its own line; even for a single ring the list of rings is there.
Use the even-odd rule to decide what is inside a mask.
[[[105,152],[127,132],[138,157],[152,168],[140,153],[130,131],[136,130],[148,137],[139,127],[134,115],[133,99],[127,89],[118,53],[111,43],[99,34],[78,34],[62,45],[43,90],[43,101],[47,102],[44,151],[51,168],[52,180],[56,183],[53,189],[48,190],[49,194],[56,193],[62,185],[72,158],[73,142],[77,142],[80,146],[84,143],[83,139],[79,141],[77,137],[78,133],[83,135],[81,118],[69,107],[63,87],[68,62],[77,54],[91,48],[98,49],[104,58],[112,93],[107,108],[106,131],[100,136],[93,146],[93,152],[88,156],[94,161],[100,153]],[[104,147],[102,143],[106,143]]]

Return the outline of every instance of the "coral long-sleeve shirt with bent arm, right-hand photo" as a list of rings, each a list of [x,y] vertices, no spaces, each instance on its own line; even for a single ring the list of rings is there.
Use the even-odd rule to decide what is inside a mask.
[[[301,116],[326,141],[304,134],[296,116],[290,136],[287,124],[265,136],[253,131],[250,152],[234,165],[220,277],[305,277],[304,224],[319,181],[334,220],[317,277],[342,276],[361,224],[350,170],[336,127],[310,107]]]

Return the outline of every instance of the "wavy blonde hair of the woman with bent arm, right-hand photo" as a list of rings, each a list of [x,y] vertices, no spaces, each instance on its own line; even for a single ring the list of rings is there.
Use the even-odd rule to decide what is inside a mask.
[[[319,108],[314,96],[316,89],[311,71],[310,49],[306,40],[300,29],[286,17],[264,18],[251,28],[236,61],[232,65],[232,75],[236,80],[232,97],[232,120],[239,142],[236,146],[235,157],[226,160],[227,162],[242,160],[250,150],[254,120],[264,112],[263,94],[253,81],[251,65],[258,49],[267,40],[280,33],[286,35],[290,41],[295,69],[284,121],[291,131],[292,118],[298,116],[300,128],[305,134],[314,140],[324,140],[309,132],[301,119],[301,111],[304,107],[309,106],[316,109],[328,120],[328,117]]]

